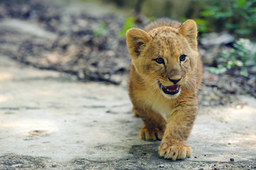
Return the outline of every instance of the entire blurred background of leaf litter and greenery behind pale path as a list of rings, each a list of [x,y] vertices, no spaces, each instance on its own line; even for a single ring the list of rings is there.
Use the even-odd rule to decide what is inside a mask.
[[[82,81],[126,84],[125,34],[158,17],[194,19],[204,60],[203,105],[256,97],[255,0],[0,0],[0,53]],[[125,83],[126,82],[126,83]]]

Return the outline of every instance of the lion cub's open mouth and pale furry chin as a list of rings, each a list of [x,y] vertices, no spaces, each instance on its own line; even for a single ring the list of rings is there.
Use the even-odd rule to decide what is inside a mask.
[[[164,86],[160,83],[160,81],[158,81],[158,85],[160,87],[162,95],[166,98],[177,98],[180,94],[181,89],[179,84],[174,84],[172,86]]]

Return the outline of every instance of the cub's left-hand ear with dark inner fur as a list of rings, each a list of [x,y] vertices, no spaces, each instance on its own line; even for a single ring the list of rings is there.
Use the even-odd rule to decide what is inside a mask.
[[[126,43],[130,56],[139,56],[145,45],[150,41],[150,35],[144,30],[130,28],[126,32]]]

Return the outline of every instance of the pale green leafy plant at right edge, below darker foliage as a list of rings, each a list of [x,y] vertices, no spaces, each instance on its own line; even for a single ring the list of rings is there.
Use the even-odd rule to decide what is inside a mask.
[[[250,40],[240,38],[234,48],[224,50],[217,59],[218,67],[209,67],[208,70],[221,74],[229,69],[238,69],[240,75],[248,77],[248,67],[256,64],[256,51]]]

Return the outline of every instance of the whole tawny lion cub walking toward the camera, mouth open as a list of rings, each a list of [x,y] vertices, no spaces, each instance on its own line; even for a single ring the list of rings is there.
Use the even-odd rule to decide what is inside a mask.
[[[186,143],[196,118],[202,62],[193,20],[159,18],[144,30],[131,28],[126,42],[131,57],[128,85],[134,115],[143,119],[140,137],[162,140],[166,159],[191,157]]]

